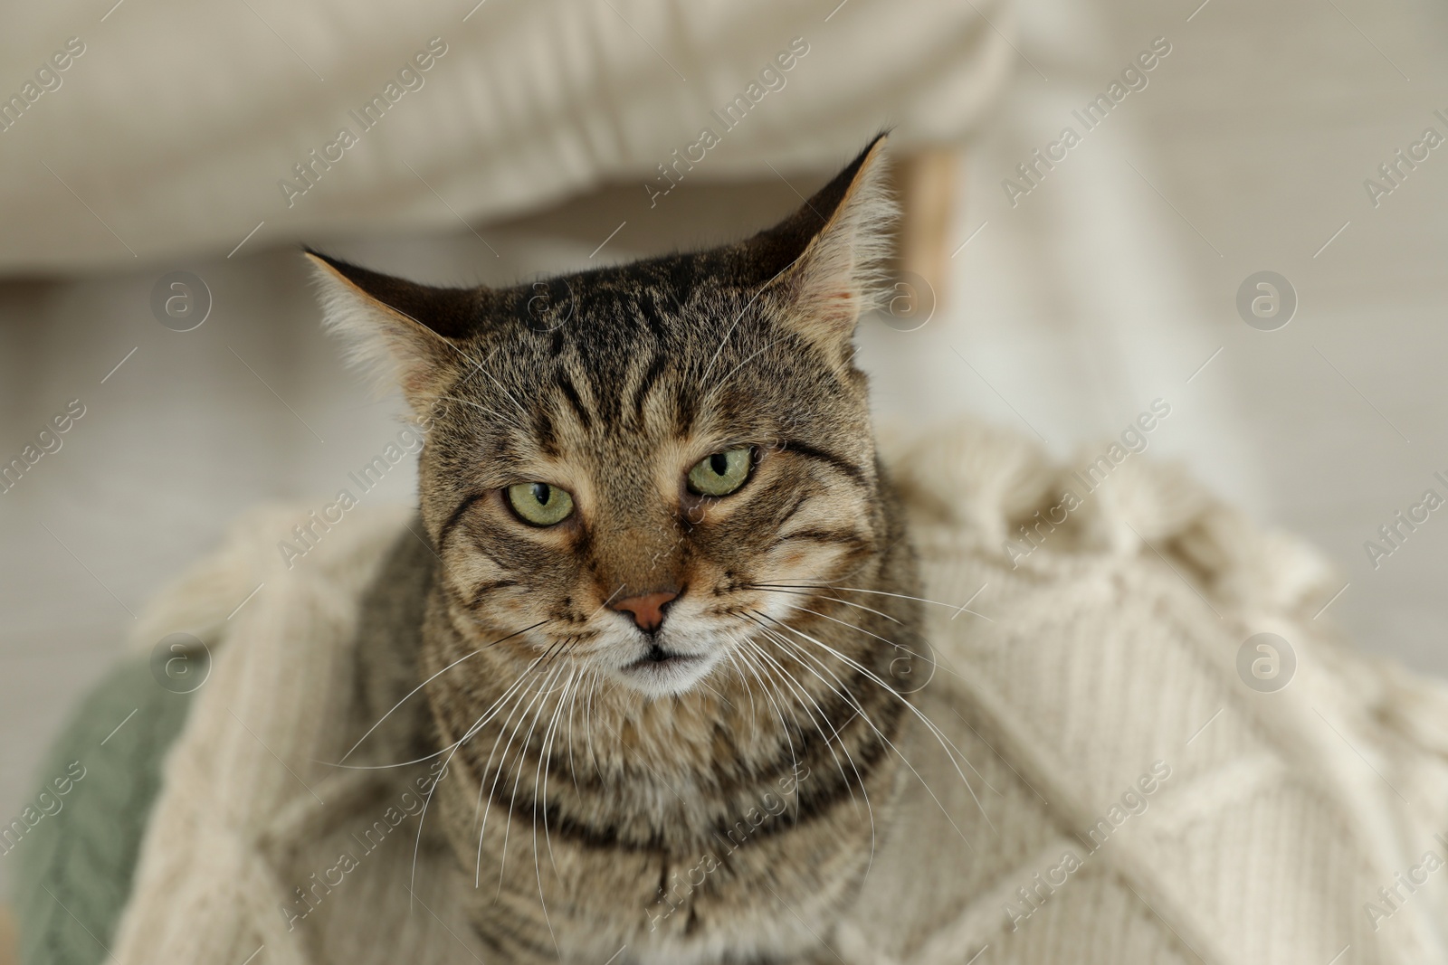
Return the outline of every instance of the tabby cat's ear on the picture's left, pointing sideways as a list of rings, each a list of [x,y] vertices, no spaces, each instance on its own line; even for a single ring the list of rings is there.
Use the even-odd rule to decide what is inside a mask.
[[[381,392],[394,386],[424,415],[458,367],[478,317],[481,292],[433,288],[382,275],[307,249],[316,271],[324,324],[346,343],[348,360]]]

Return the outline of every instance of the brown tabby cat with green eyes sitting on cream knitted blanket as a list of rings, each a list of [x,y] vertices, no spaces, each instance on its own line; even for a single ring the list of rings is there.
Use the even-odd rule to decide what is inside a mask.
[[[427,430],[362,679],[447,762],[424,823],[491,961],[834,961],[922,645],[853,363],[882,149],[746,242],[547,284],[313,253]]]

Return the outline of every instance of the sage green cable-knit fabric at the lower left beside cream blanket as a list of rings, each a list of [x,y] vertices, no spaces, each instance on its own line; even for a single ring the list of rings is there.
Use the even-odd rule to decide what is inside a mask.
[[[0,861],[14,862],[20,965],[107,958],[161,788],[161,762],[190,706],[190,694],[164,689],[138,658],[116,667],[74,710],[25,802],[28,817],[0,828],[7,835]],[[68,781],[75,774],[83,777]]]

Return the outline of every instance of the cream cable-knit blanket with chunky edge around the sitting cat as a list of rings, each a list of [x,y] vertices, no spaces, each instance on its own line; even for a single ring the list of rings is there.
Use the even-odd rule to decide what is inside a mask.
[[[977,773],[967,788],[922,726],[904,735],[934,797],[909,778],[880,828],[857,910],[825,936],[843,962],[1448,962],[1448,690],[1332,638],[1318,612],[1338,584],[1310,550],[1142,456],[1089,493],[977,425],[891,462],[925,596],[950,605],[930,608],[919,706]],[[1080,505],[1025,554],[1018,527],[1060,519],[1067,488]],[[353,509],[288,570],[298,516],[239,524],[145,619],[138,644],[188,631],[214,664],[114,956],[489,961],[456,900],[471,875],[426,836],[413,872],[391,773],[326,764],[371,725],[358,595],[407,512]],[[1284,689],[1238,671],[1260,632],[1290,642]]]

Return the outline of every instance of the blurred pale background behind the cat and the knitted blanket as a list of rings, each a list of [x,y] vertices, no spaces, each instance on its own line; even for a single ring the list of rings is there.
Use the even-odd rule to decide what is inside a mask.
[[[298,242],[513,284],[766,227],[883,126],[924,174],[918,301],[859,339],[882,424],[972,414],[1072,460],[1164,399],[1153,457],[1335,561],[1321,619],[1448,671],[1448,511],[1394,518],[1448,496],[1441,4],[113,3],[0,12],[0,462],[61,443],[0,492],[0,815],[169,576],[395,437]],[[366,499],[414,499],[411,469]]]

